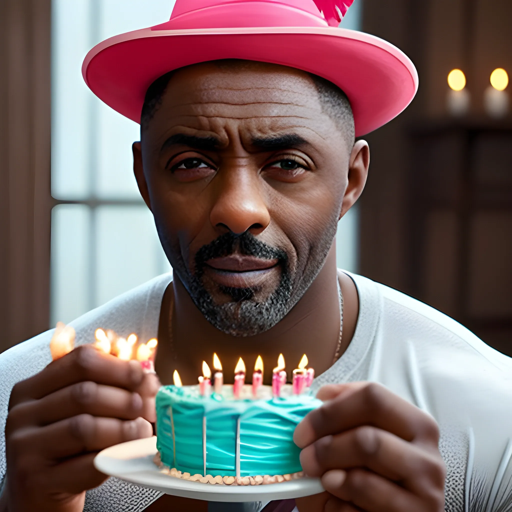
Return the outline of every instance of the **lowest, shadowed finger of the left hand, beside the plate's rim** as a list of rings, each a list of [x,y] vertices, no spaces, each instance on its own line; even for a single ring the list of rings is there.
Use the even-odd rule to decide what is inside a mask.
[[[109,477],[94,467],[96,455],[80,455],[50,468],[44,477],[46,489],[52,493],[75,495],[101,485]]]

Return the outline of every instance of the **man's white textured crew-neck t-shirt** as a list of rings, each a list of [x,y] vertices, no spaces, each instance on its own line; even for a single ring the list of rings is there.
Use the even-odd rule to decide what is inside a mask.
[[[359,294],[356,330],[343,356],[315,378],[314,389],[333,382],[382,383],[439,423],[440,451],[447,466],[447,511],[512,510],[512,359],[439,311],[349,275]],[[92,342],[97,327],[124,336],[136,332],[142,339],[157,336],[162,295],[171,279],[170,274],[159,276],[76,319],[71,325],[77,344]],[[52,332],[0,355],[3,422],[14,383],[50,362]],[[0,462],[3,476],[3,428]],[[110,479],[87,493],[84,510],[139,512],[158,496],[156,491]]]

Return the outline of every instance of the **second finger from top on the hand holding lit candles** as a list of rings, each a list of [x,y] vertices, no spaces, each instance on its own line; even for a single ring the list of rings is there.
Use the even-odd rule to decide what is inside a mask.
[[[23,426],[45,426],[79,414],[135,419],[142,416],[142,411],[138,393],[92,381],[78,382],[40,400],[19,403],[9,412],[6,435]]]

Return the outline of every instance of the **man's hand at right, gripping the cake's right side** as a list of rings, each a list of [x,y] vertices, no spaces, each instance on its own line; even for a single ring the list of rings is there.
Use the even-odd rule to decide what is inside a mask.
[[[300,512],[443,512],[445,467],[429,415],[371,382],[324,386],[326,401],[297,425],[307,475],[327,493]]]

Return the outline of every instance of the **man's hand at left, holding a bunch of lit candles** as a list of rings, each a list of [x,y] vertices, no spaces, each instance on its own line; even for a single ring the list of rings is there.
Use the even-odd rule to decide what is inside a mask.
[[[150,437],[155,374],[91,346],[79,347],[17,383],[6,424],[9,512],[78,512],[105,475],[98,451]]]

